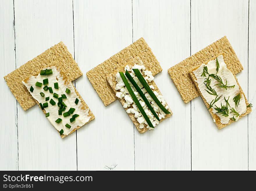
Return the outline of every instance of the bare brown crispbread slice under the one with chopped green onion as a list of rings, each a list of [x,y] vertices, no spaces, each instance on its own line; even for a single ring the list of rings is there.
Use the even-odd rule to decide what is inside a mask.
[[[21,67],[15,69],[10,74],[4,76],[11,92],[25,111],[34,106],[36,102],[30,93],[26,91],[26,87],[22,84],[22,80],[31,75],[37,75],[40,73],[40,69],[46,66],[61,67],[70,81],[74,81],[83,75],[63,42],[59,42],[47,49]]]

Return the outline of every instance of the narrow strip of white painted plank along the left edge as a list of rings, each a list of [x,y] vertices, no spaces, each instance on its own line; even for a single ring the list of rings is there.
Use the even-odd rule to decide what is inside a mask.
[[[13,1],[0,2],[0,63],[2,97],[0,125],[0,170],[18,169],[18,140],[16,126],[16,99],[3,76],[15,69],[15,40]]]

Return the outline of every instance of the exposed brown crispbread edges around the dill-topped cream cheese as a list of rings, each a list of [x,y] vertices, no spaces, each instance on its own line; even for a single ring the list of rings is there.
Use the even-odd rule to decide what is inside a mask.
[[[226,62],[228,61],[228,59],[229,59],[228,56],[227,56],[227,54],[226,54],[226,53],[221,53],[221,54],[223,54],[224,62],[226,63]],[[197,79],[196,79],[195,74],[193,73],[193,71],[196,70],[196,69],[198,69],[198,67],[200,67],[202,64],[206,64],[206,65],[207,65],[207,63],[208,63],[210,60],[216,59],[216,57],[220,56],[221,54],[219,54],[219,55],[217,55],[217,56],[215,56],[215,57],[213,57],[213,58],[207,60],[207,61],[204,62],[204,63],[201,63],[199,66],[195,67],[194,69],[192,69],[192,70],[189,72],[189,75],[191,76],[193,82],[195,83],[195,87],[197,88],[197,91],[199,92],[199,94],[200,94],[202,100],[204,101],[205,106],[207,107],[207,109],[209,108],[209,104],[206,102],[205,98],[202,96],[202,93],[201,93],[201,91],[200,91],[199,88],[198,88],[198,83],[196,82]],[[234,75],[234,73],[233,73],[233,75]],[[236,78],[235,75],[234,75],[234,77],[235,77],[235,79],[236,79],[236,81],[237,81],[237,78]],[[238,81],[237,81],[237,84],[239,85]],[[247,101],[247,99],[246,99],[246,96],[245,96],[245,94],[244,94],[244,92],[243,92],[243,90],[242,90],[242,88],[241,88],[240,85],[239,85],[239,90],[240,90],[240,94],[243,94],[243,96],[244,96],[246,105],[248,105],[249,103],[248,103],[248,101]],[[215,113],[213,113],[212,110],[213,110],[212,108],[208,109],[209,113],[211,114],[211,117],[212,117],[213,119],[215,119],[215,124],[216,124],[216,126],[217,126],[218,129],[222,129],[223,127],[225,127],[225,126],[227,126],[227,125],[229,125],[229,124],[235,122],[235,121],[233,121],[233,120],[230,119],[230,121],[229,121],[227,124],[222,124],[220,118],[218,117],[218,115],[216,115]],[[250,113],[251,111],[252,111],[252,109],[251,109],[250,107],[248,107],[247,110],[246,110],[246,113],[243,113],[242,115],[240,115],[240,116],[239,116],[239,119],[240,119],[241,117],[247,115],[247,114]]]

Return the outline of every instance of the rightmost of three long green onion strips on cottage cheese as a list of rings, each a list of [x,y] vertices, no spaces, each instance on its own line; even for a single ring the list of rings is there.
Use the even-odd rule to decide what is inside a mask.
[[[149,85],[147,84],[146,80],[144,79],[144,77],[142,76],[141,72],[138,69],[132,69],[135,73],[135,75],[137,76],[137,78],[139,79],[139,81],[141,82],[141,84],[143,85],[143,87],[147,90],[147,92],[150,94],[150,96],[152,97],[152,99],[157,103],[157,105],[159,106],[159,108],[166,114],[170,113],[161,103],[161,101],[159,101],[156,97],[156,95],[154,94],[154,92],[151,90],[151,88],[149,87]]]

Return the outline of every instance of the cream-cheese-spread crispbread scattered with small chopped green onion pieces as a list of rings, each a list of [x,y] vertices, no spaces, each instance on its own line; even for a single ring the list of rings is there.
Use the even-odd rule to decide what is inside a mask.
[[[24,81],[22,83],[24,84],[24,86],[26,86],[26,91],[28,91],[33,96],[33,98],[35,99],[35,102],[38,104],[40,109],[41,109],[41,106],[40,106],[38,100],[40,100],[41,103],[48,103],[48,106],[46,106],[43,109],[43,112],[45,114],[46,114],[46,111],[50,112],[50,115],[49,115],[49,117],[47,117],[47,119],[53,124],[54,127],[58,126],[58,128],[55,127],[57,129],[57,131],[60,131],[61,129],[64,130],[64,133],[61,135],[61,138],[64,138],[67,135],[70,135],[72,132],[79,129],[81,126],[89,123],[95,117],[94,117],[93,113],[90,111],[90,108],[87,106],[85,101],[80,96],[80,94],[77,92],[74,85],[69,81],[69,79],[67,78],[66,74],[63,72],[62,69],[60,69],[59,67],[55,67],[55,66],[45,67],[44,69],[52,69],[53,74],[49,74],[47,76],[40,75],[40,74],[38,74],[36,76],[29,76],[28,78],[24,79]],[[34,85],[35,81],[43,82],[43,80],[46,78],[47,78],[47,82],[44,85],[41,85],[41,87]],[[57,83],[58,85],[56,87],[55,87],[56,84],[54,84],[55,82],[58,82]],[[60,97],[61,101],[66,103],[67,110],[64,110],[61,115],[58,113],[60,106],[59,105],[57,106],[57,102],[59,102],[57,100],[59,100],[59,99],[54,97],[54,94],[51,93],[48,90],[48,88],[47,88],[47,90],[44,90],[43,86],[45,86],[45,85],[47,87],[48,86],[52,87],[54,94],[57,93],[58,94],[57,97]],[[30,91],[31,86],[33,87],[32,91]],[[67,92],[66,88],[69,88],[70,92]],[[65,90],[66,90],[66,92],[65,92]],[[41,95],[41,93],[39,94],[39,92],[43,93],[43,96]],[[61,94],[64,94],[65,97],[62,98]],[[49,96],[49,99],[47,101],[45,101],[45,98],[48,96]],[[77,98],[79,98],[79,99],[77,99]],[[52,99],[52,101],[55,101],[56,103],[54,103],[52,105],[50,102],[51,99]],[[76,103],[74,102],[75,99],[77,99]],[[81,103],[80,103],[80,101],[81,101]],[[64,106],[64,107],[66,107],[66,106]],[[63,113],[65,113],[65,112],[68,113],[67,111],[71,108],[74,108],[74,111],[70,112],[71,115],[68,114],[68,116],[65,117],[63,115]],[[69,119],[74,114],[79,114],[79,116],[76,118],[76,120],[74,120],[74,122],[71,122]],[[54,117],[52,117],[52,116],[54,116]],[[50,117],[51,117],[51,119],[50,119]],[[58,118],[62,118],[63,121],[61,123],[56,123],[55,120]],[[71,125],[71,128],[65,127],[66,123]]]

